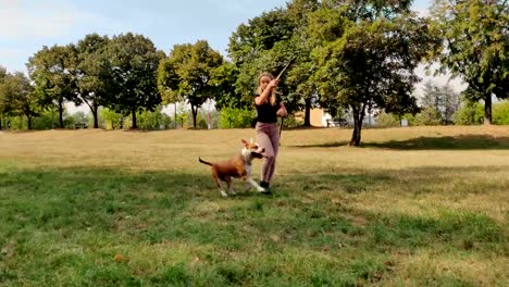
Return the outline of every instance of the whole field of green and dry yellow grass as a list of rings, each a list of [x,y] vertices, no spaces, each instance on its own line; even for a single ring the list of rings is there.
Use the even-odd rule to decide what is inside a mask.
[[[509,286],[509,127],[0,134],[0,286]],[[258,178],[260,162],[254,162]]]

